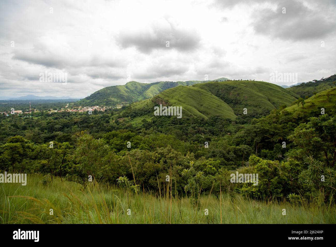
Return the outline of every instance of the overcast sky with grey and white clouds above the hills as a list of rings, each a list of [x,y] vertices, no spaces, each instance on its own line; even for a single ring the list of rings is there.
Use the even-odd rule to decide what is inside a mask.
[[[334,0],[1,0],[0,96],[86,97],[205,75],[321,79],[336,73],[335,12]],[[67,84],[40,81],[45,71]]]

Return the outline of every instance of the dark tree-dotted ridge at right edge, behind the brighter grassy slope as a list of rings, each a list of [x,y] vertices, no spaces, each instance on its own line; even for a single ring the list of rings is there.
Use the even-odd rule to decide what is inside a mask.
[[[318,93],[330,89],[331,87],[335,87],[335,81],[336,74],[327,78],[322,78],[321,80],[313,80],[294,87],[289,87],[287,90],[300,95],[302,98],[305,98],[306,96],[311,97],[314,95],[314,92]]]

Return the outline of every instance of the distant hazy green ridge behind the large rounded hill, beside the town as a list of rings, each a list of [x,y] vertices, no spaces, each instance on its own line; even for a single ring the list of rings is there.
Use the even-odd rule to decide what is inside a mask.
[[[228,80],[227,78],[219,78],[217,81]],[[209,81],[209,80],[208,80]],[[111,106],[117,104],[130,104],[132,102],[151,98],[158,93],[177,86],[189,86],[208,81],[161,81],[153,83],[140,83],[136,81],[127,82],[125,85],[110,86],[102,88],[90,96],[77,102],[82,106],[104,105]]]

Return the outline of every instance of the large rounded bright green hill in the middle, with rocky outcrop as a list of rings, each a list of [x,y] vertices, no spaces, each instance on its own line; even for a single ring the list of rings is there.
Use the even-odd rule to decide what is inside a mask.
[[[151,99],[133,103],[126,112],[153,117],[154,106],[181,106],[183,116],[207,119],[210,116],[235,119],[247,108],[248,114],[266,114],[281,105],[291,105],[299,96],[261,81],[222,81],[178,86]],[[139,116],[139,114],[137,114]]]

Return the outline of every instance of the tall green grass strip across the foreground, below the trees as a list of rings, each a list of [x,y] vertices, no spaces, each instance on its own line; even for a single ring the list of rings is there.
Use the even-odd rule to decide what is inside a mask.
[[[291,205],[221,193],[219,199],[201,195],[197,210],[188,198],[171,196],[171,184],[158,194],[134,194],[96,182],[83,187],[58,177],[43,185],[39,174],[28,174],[27,181],[26,186],[0,184],[1,223],[336,223],[335,206],[321,198]]]

